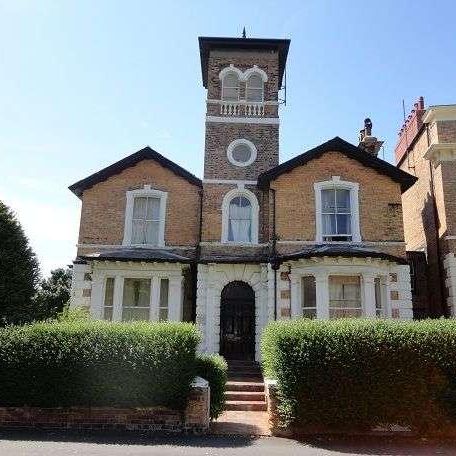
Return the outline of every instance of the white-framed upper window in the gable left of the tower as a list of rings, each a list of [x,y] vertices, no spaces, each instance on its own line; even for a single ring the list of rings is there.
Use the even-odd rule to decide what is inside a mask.
[[[166,200],[166,192],[152,189],[150,185],[127,192],[124,245],[165,245]]]

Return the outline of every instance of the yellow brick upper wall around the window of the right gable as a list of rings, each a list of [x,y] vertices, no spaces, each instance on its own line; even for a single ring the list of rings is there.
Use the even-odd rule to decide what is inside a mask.
[[[325,153],[272,183],[281,240],[315,240],[313,184],[331,180],[332,176],[359,184],[362,241],[403,241],[399,184],[340,152]],[[401,251],[404,253],[404,249]]]

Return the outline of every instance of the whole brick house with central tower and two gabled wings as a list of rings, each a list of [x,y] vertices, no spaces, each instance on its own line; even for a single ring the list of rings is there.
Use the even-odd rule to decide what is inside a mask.
[[[411,318],[401,194],[415,178],[335,137],[279,164],[289,41],[200,38],[204,176],[150,148],[70,187],[72,303],[95,318],[195,321],[202,349],[258,359],[268,321]]]

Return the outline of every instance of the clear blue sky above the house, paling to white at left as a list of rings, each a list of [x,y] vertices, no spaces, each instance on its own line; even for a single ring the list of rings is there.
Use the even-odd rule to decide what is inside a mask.
[[[0,0],[0,199],[42,271],[76,253],[68,185],[150,145],[202,176],[199,35],[290,38],[281,160],[363,119],[392,160],[409,107],[456,102],[456,4]]]

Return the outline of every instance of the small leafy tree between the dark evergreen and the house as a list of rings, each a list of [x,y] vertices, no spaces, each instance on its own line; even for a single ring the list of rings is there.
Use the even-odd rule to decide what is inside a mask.
[[[71,269],[58,268],[41,281],[34,298],[37,320],[56,318],[70,300]]]

